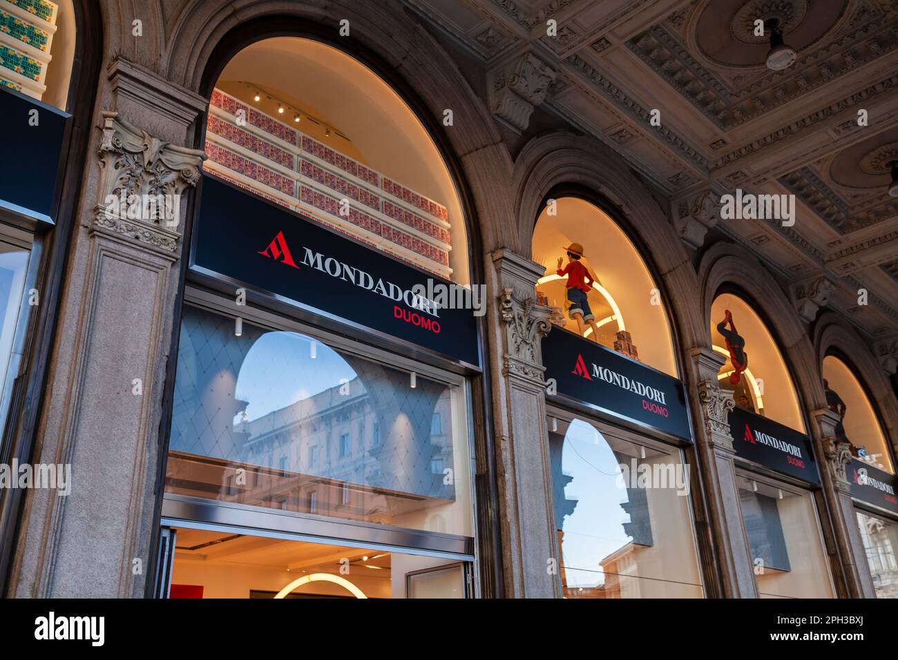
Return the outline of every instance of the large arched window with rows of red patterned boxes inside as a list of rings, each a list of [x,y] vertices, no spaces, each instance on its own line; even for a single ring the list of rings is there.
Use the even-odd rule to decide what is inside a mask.
[[[295,37],[225,66],[207,171],[458,284],[470,283],[462,205],[418,117],[368,67]]]

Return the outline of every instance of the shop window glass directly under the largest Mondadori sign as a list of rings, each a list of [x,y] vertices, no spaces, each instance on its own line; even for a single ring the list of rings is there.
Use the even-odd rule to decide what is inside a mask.
[[[241,337],[233,330],[233,318],[184,309],[167,492],[252,506],[273,506],[274,497],[286,495],[296,513],[314,508],[319,515],[472,535],[462,388],[422,374],[411,387],[408,371],[320,340],[313,351],[313,339],[297,332],[247,321]],[[431,434],[436,411],[444,419],[440,436]],[[368,436],[374,428],[381,429],[379,443]],[[365,437],[352,437],[357,433]],[[277,462],[282,455],[286,471]],[[304,456],[306,466],[299,462]],[[448,475],[433,473],[435,458]],[[253,486],[230,496],[226,476],[238,468],[259,479],[245,479]],[[347,482],[357,497],[341,506]],[[313,484],[314,504],[299,497]]]

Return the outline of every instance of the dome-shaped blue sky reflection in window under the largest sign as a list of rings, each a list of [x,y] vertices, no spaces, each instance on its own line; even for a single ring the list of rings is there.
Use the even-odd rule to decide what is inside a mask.
[[[256,341],[240,369],[235,397],[249,401],[250,419],[351,381],[356,372],[332,348],[296,332],[269,332]],[[235,423],[239,421],[239,417]]]

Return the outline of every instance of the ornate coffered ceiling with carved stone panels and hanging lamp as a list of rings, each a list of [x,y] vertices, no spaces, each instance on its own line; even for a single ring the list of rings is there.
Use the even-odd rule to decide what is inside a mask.
[[[697,224],[680,219],[694,225],[681,227],[686,242],[726,233],[770,264],[797,306],[810,296],[884,346],[898,339],[886,167],[898,158],[898,2],[405,2],[468,58],[466,75],[483,76],[471,86],[487,90],[510,144],[533,130],[534,109],[596,136],[671,200],[674,224],[678,209],[706,209]],[[769,34],[753,31],[770,18],[797,51],[782,71],[765,66]],[[736,188],[795,195],[796,223],[719,219],[714,201]]]

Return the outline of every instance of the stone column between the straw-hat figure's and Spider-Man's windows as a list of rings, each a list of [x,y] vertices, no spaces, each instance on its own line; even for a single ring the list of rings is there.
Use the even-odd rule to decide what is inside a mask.
[[[696,453],[706,472],[710,528],[721,570],[721,589],[727,598],[756,598],[757,587],[742,507],[735,481],[735,449],[729,412],[733,393],[720,389],[718,372],[726,357],[709,348],[693,348],[692,371],[698,383],[700,418],[696,423]]]

